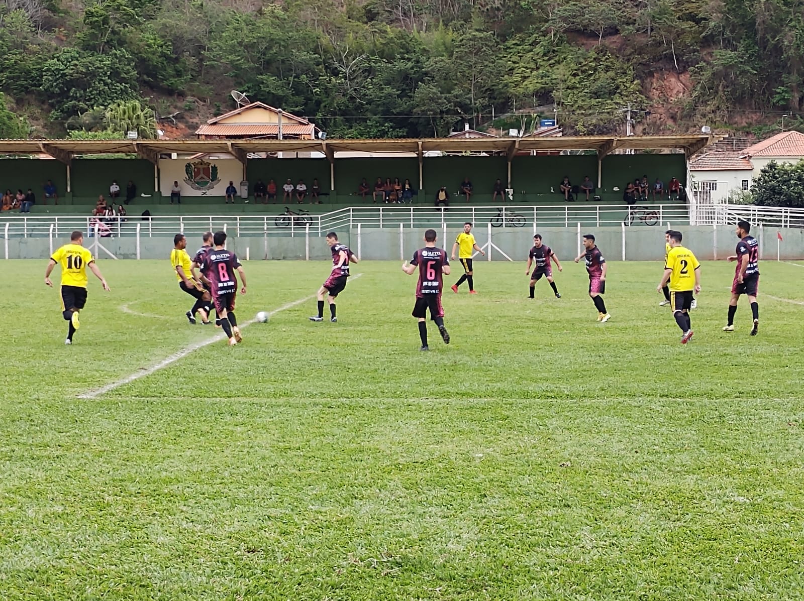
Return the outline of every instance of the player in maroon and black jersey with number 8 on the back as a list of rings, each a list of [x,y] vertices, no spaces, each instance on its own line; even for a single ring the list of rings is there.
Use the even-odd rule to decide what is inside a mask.
[[[246,275],[236,254],[225,248],[225,231],[216,231],[212,236],[212,243],[215,244],[215,247],[207,252],[203,274],[210,283],[210,292],[212,292],[212,300],[215,303],[215,311],[220,318],[220,327],[229,337],[229,345],[233,346],[243,340],[235,317],[236,273],[240,274],[240,281],[243,282],[240,294],[246,293]]]

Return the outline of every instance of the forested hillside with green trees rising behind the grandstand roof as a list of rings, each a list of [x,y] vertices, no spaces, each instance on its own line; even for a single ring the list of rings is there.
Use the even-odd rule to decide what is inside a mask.
[[[113,135],[119,100],[189,131],[232,89],[330,137],[796,127],[802,76],[804,0],[0,0],[0,137]]]

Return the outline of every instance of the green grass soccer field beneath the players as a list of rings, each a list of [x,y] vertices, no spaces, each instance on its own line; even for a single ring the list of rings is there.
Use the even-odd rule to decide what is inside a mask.
[[[659,263],[609,263],[599,324],[583,264],[529,300],[477,261],[429,353],[399,262],[233,348],[167,260],[100,262],[65,346],[46,264],[2,267],[2,599],[801,598],[804,264],[760,264],[749,337],[704,263],[685,346]],[[239,321],[330,267],[245,262]]]

